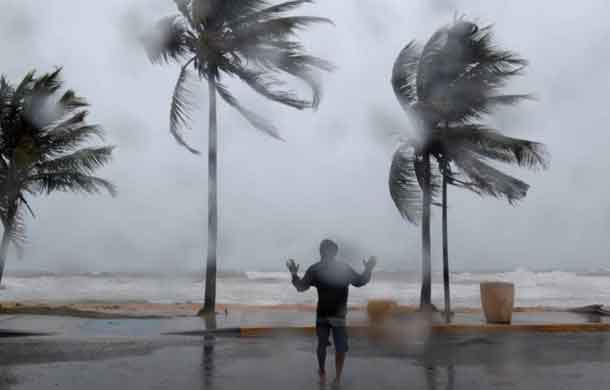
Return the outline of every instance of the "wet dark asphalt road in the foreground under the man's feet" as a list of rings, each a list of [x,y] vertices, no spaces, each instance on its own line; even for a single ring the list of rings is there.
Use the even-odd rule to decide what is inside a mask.
[[[352,339],[341,388],[610,388],[607,333],[422,339]],[[0,390],[319,389],[314,351],[294,336],[6,338]]]

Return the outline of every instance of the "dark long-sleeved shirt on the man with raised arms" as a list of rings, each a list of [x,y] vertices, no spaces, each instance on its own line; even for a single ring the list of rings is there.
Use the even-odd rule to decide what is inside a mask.
[[[309,287],[318,290],[318,318],[345,318],[349,285],[361,287],[371,280],[371,269],[358,274],[349,265],[336,261],[318,262],[305,272],[303,279],[292,275],[292,284],[298,291]]]

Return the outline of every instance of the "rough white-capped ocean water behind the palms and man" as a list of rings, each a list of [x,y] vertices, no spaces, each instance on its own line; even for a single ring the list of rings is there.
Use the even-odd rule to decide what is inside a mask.
[[[509,281],[515,284],[517,306],[575,307],[610,305],[610,272],[535,272],[517,269],[496,273],[451,275],[454,307],[480,307],[479,283]],[[287,272],[234,272],[221,274],[218,302],[226,304],[314,304],[315,290],[297,293]],[[369,299],[394,299],[400,304],[419,302],[417,272],[377,272],[370,284],[350,289],[350,304]],[[442,306],[440,275],[433,277],[433,302]],[[201,302],[201,276],[128,274],[8,275],[0,289],[0,301],[146,301],[153,303]]]

